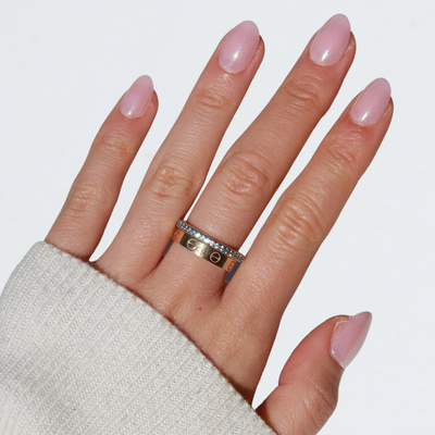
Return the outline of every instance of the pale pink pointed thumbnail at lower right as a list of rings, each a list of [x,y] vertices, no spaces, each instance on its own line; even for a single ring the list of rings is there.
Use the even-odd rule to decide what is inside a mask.
[[[331,353],[346,369],[360,351],[372,323],[372,313],[365,311],[349,318],[338,326],[331,343]]]

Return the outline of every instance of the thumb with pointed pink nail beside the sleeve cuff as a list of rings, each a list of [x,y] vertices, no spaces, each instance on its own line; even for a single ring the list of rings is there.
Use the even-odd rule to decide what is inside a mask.
[[[318,326],[297,347],[278,387],[257,412],[278,435],[314,435],[333,414],[344,369],[361,349],[369,312],[337,316]]]

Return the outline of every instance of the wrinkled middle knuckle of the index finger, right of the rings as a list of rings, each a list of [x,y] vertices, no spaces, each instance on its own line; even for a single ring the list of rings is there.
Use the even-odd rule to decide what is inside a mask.
[[[313,199],[299,194],[287,199],[275,219],[275,235],[281,249],[304,251],[326,236],[324,217]]]

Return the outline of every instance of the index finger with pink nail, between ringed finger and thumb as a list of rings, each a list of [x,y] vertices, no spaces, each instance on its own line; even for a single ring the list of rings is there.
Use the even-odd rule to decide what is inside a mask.
[[[223,310],[254,332],[240,344],[237,359],[239,370],[252,377],[260,378],[285,308],[381,145],[393,115],[389,94],[388,83],[378,79],[349,104],[279,198],[225,288]],[[258,355],[256,362],[244,358],[249,347]]]

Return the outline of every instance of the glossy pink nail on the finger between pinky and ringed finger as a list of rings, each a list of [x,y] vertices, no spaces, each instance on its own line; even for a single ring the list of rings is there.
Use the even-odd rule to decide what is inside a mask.
[[[227,73],[237,74],[252,61],[259,44],[256,23],[244,21],[228,35],[219,55],[219,64]]]

